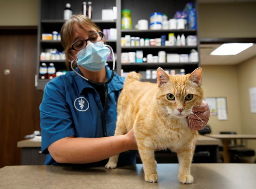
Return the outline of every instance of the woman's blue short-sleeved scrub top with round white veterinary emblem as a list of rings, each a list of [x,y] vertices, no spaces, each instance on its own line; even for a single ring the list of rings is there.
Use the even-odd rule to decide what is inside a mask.
[[[107,67],[107,80],[111,70]],[[79,68],[76,71],[82,75]],[[116,128],[117,99],[124,84],[124,77],[116,73],[108,84],[108,104],[106,128],[108,136],[113,136]],[[98,92],[74,71],[49,81],[44,88],[40,104],[42,153],[46,154],[45,165],[59,164],[49,154],[47,147],[65,137],[103,137],[103,109]],[[119,164],[134,164],[136,153],[123,153]],[[104,161],[105,163],[106,161]],[[94,163],[95,164],[95,163]],[[97,164],[97,163],[96,163]],[[102,162],[99,164],[102,164]]]

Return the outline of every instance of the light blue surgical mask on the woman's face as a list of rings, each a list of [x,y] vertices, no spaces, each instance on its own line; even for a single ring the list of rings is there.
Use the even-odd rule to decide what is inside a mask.
[[[103,42],[89,43],[76,54],[76,63],[86,70],[97,72],[104,68],[109,53],[110,49]]]

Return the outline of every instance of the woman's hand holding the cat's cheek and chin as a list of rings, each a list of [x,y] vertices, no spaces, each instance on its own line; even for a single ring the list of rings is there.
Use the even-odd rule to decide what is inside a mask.
[[[203,100],[200,106],[192,109],[192,112],[187,117],[188,127],[196,131],[203,129],[210,118],[210,109],[207,102]]]

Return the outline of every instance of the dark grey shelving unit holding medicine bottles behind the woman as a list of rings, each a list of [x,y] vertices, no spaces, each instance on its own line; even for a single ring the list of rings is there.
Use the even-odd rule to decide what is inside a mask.
[[[135,29],[121,29],[121,11],[123,9],[130,9],[132,12],[132,25],[135,28],[138,20],[147,19],[150,23],[150,14],[153,12],[163,12],[167,14],[168,19],[172,18],[176,11],[183,10],[186,3],[192,2],[196,10],[198,10],[197,0],[91,0],[93,12],[92,21],[100,27],[100,29],[116,28],[117,29],[117,40],[106,40],[106,42],[114,49],[116,52],[116,72],[121,74],[121,69],[124,72],[128,71],[145,71],[146,69],[157,69],[162,67],[164,69],[185,69],[186,73],[192,72],[197,67],[200,67],[200,60],[196,63],[131,63],[131,64],[121,64],[121,53],[122,52],[135,52],[136,50],[143,50],[144,57],[147,54],[157,55],[158,51],[164,50],[166,53],[178,53],[178,54],[189,54],[192,49],[196,49],[199,52],[199,31],[198,29],[182,29],[182,30],[135,30]],[[74,0],[72,2],[67,0],[39,0],[39,21],[38,21],[38,46],[37,46],[37,73],[39,72],[39,66],[42,62],[55,63],[56,71],[65,70],[65,60],[47,60],[41,61],[39,59],[40,53],[44,52],[44,49],[58,49],[63,50],[60,41],[42,41],[42,33],[52,33],[52,31],[60,32],[61,26],[65,22],[63,20],[63,11],[66,3],[71,4],[73,14],[81,13],[82,1]],[[102,20],[101,10],[102,9],[112,9],[113,6],[117,7],[117,20]],[[197,12],[198,15],[198,12]],[[197,16],[198,18],[198,16]],[[197,19],[198,20],[198,19]],[[198,23],[197,23],[198,26]],[[187,35],[197,35],[197,46],[138,46],[138,47],[121,47],[121,37],[124,35],[131,35],[140,38],[160,38],[161,35],[166,35],[168,38],[169,33],[174,33],[175,36],[178,34]],[[109,66],[112,66],[112,61],[107,61]],[[37,74],[39,75],[39,74]],[[44,89],[45,84],[48,79],[37,79],[37,89]],[[144,80],[143,80],[144,81]],[[145,81],[156,82],[156,79],[147,79]]]

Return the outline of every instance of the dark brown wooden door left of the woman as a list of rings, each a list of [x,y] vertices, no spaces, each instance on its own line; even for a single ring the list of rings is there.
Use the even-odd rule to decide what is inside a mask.
[[[0,28],[0,168],[20,165],[17,141],[40,131],[43,92],[35,87],[37,35],[36,29],[26,31]]]

